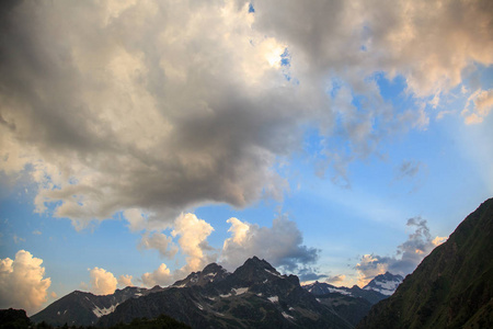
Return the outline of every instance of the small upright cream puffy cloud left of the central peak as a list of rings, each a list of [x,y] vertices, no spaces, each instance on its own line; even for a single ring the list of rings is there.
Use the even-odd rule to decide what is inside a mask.
[[[186,257],[186,265],[182,271],[186,274],[191,271],[200,271],[205,265],[215,260],[214,256],[208,256],[211,250],[207,243],[207,237],[214,228],[204,219],[197,218],[194,214],[182,214],[174,222],[173,237],[180,236],[179,245]]]

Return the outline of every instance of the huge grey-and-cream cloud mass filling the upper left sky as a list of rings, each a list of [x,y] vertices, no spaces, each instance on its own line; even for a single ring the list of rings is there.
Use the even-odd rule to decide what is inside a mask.
[[[60,202],[77,229],[137,208],[171,224],[283,194],[272,167],[301,136],[301,103],[268,59],[284,46],[232,3],[169,5],[20,3],[5,18],[1,169],[31,164],[38,212]]]

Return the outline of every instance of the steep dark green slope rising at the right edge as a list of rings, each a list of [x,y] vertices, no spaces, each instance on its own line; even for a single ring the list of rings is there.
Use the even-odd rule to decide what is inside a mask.
[[[493,198],[470,214],[357,328],[493,328]]]

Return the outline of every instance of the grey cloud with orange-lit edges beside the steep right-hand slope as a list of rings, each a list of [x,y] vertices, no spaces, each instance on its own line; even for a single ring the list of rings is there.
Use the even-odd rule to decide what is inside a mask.
[[[447,238],[433,238],[426,219],[414,217],[408,219],[406,225],[415,228],[405,242],[397,248],[395,256],[381,257],[377,254],[364,254],[356,264],[359,274],[358,284],[366,285],[378,274],[389,271],[392,274],[406,275],[414,271],[436,246],[445,242]]]

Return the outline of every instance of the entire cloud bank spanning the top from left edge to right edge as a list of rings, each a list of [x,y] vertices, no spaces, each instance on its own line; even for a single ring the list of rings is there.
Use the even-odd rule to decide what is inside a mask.
[[[273,166],[301,148],[309,124],[344,141],[324,144],[321,157],[348,185],[348,162],[427,122],[422,109],[386,103],[375,75],[401,75],[426,98],[460,83],[471,64],[493,63],[489,1],[254,5],[2,10],[0,170],[28,166],[37,211],[55,203],[54,215],[77,229],[126,209],[171,224],[199,204],[282,197],[287,183]],[[149,223],[124,215],[133,230]]]

